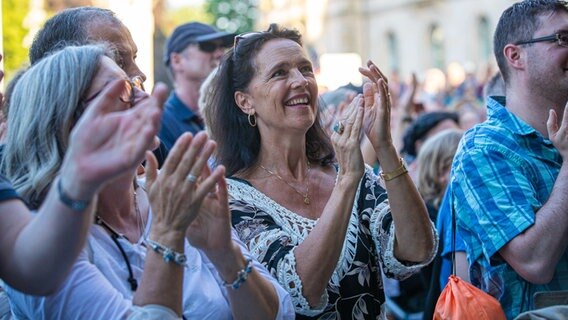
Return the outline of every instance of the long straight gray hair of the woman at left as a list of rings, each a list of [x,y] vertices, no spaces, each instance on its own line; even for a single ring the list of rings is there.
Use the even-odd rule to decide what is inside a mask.
[[[32,208],[59,172],[81,101],[107,53],[101,45],[65,47],[31,66],[14,88],[0,166]]]

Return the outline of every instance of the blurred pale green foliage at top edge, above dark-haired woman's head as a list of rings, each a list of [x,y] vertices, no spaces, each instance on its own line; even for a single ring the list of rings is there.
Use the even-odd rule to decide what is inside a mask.
[[[214,17],[214,25],[232,33],[254,29],[257,16],[256,0],[206,0],[205,10]]]

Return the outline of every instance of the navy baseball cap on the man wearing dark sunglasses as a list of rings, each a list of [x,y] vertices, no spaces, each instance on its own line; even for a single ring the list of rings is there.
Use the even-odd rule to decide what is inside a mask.
[[[182,52],[192,43],[221,40],[226,47],[233,44],[235,34],[219,31],[210,25],[200,22],[189,22],[178,26],[166,42],[164,63],[170,65],[170,55]]]

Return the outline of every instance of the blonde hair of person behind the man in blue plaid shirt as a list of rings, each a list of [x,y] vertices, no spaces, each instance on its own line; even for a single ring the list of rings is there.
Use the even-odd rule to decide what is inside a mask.
[[[455,129],[439,132],[427,139],[418,153],[418,191],[436,207],[446,191],[441,177],[451,168],[462,135]]]

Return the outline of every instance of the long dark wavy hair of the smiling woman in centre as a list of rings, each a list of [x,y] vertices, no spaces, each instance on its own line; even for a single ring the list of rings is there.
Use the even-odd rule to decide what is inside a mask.
[[[251,127],[247,114],[235,102],[236,91],[246,91],[256,73],[255,58],[262,46],[273,39],[289,39],[302,46],[297,30],[271,24],[268,30],[251,32],[235,38],[236,45],[226,53],[205,99],[205,120],[211,135],[217,141],[217,162],[227,168],[227,176],[244,172],[257,161],[261,136]],[[335,153],[329,136],[324,131],[319,113],[306,133],[306,155],[313,164],[333,162]]]

